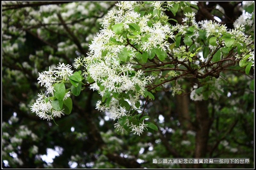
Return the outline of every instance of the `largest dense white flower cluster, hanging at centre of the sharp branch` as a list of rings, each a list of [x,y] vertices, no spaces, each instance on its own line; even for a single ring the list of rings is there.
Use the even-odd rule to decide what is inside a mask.
[[[141,15],[134,11],[138,5],[136,2],[118,2],[118,9],[110,10],[102,20],[103,29],[89,45],[88,56],[75,59],[75,67],[84,66],[87,80],[94,81],[90,88],[97,90],[102,96],[103,100],[97,102],[96,109],[108,112],[114,120],[131,116],[130,110],[138,109],[135,103],[140,103],[139,96],[146,92],[145,86],[153,81],[152,75],[145,77],[143,71],[134,69],[131,64],[133,58],[141,58],[138,56],[143,52],[151,53],[155,49],[166,52],[170,45],[167,39],[174,38],[173,31],[167,24],[168,17],[161,11],[161,4],[164,2],[150,3],[147,4],[149,7],[151,5],[159,10],[154,15]],[[173,3],[167,3],[168,7],[172,5]],[[148,24],[149,21],[151,25]],[[123,98],[129,103],[129,110],[120,103],[122,98],[114,93],[130,94]],[[110,99],[105,101],[106,98]],[[132,131],[136,131],[135,125],[131,127]],[[140,130],[136,131],[138,135],[144,129],[143,123],[139,127]],[[118,129],[124,131],[119,126]]]

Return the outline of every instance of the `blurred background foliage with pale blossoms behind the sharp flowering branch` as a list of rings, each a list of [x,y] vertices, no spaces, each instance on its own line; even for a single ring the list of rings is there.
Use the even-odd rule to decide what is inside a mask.
[[[196,168],[192,164],[152,164],[152,158],[193,158],[196,102],[186,92],[156,92],[146,111],[158,132],[117,135],[114,122],[95,109],[100,96],[85,89],[72,96],[70,115],[41,120],[30,111],[38,72],[86,56],[107,11],[116,2],[2,1],[2,168]],[[200,2],[197,21],[225,18],[228,28],[241,15],[242,2]],[[248,7],[247,7],[248,8]],[[249,9],[250,10],[250,9]],[[254,10],[254,6],[253,6]],[[166,11],[167,12],[167,11]],[[181,15],[169,17],[181,22]],[[224,17],[223,17],[224,16]],[[239,67],[239,66],[238,66]],[[250,164],[202,164],[201,168],[254,167],[254,92],[248,77],[226,71],[223,95],[204,101],[211,127],[205,158],[250,158]],[[253,77],[253,72],[250,72]],[[190,91],[190,82],[183,80]],[[166,89],[170,87],[166,86]],[[141,100],[145,104],[145,99]],[[83,107],[81,107],[83,106]],[[204,121],[204,120],[202,120]]]

